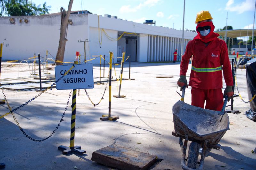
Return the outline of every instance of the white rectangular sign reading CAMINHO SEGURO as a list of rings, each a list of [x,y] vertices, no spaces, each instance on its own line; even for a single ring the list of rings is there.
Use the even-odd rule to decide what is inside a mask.
[[[73,65],[58,65],[55,67],[56,81],[62,77]],[[92,64],[75,64],[63,78],[56,83],[57,90],[64,89],[92,89],[93,69]]]

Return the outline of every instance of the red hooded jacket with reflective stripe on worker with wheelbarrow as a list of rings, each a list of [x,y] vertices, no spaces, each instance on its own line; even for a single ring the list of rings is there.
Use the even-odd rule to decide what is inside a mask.
[[[201,36],[198,27],[210,26],[211,31]],[[189,41],[180,63],[180,75],[186,75],[189,59],[192,57],[192,69],[189,86],[200,89],[222,88],[222,71],[227,86],[233,86],[231,65],[225,41],[217,38],[212,22],[201,22],[196,27],[198,35]],[[208,44],[207,44],[208,43]]]

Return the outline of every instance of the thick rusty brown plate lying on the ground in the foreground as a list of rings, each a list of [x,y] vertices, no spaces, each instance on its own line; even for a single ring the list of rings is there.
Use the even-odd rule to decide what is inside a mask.
[[[113,144],[94,151],[91,160],[117,169],[144,170],[156,162],[156,156]]]

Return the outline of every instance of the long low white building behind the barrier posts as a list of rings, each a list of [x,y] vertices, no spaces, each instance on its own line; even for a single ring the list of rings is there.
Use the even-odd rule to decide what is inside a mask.
[[[65,62],[76,60],[76,51],[84,61],[84,42],[86,59],[114,52],[115,62],[121,60],[122,51],[131,55],[131,61],[172,61],[173,52],[181,53],[182,31],[140,24],[117,19],[109,15],[71,14],[69,22]],[[40,53],[46,56],[46,50],[55,58],[60,37],[60,15],[11,16],[0,17],[0,41],[4,42],[2,60],[24,60]],[[123,35],[123,36],[121,36]],[[121,36],[121,37],[120,37]],[[184,32],[184,51],[195,32]],[[101,45],[100,45],[101,43]],[[48,53],[48,57],[51,55]],[[99,57],[91,61],[99,63]]]

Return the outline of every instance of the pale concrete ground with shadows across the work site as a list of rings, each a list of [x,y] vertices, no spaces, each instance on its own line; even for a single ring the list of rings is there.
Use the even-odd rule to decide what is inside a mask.
[[[116,144],[133,150],[156,155],[163,159],[151,169],[181,169],[181,149],[178,137],[171,135],[174,130],[172,122],[172,106],[180,100],[176,93],[180,63],[137,63],[131,64],[131,78],[123,80],[121,95],[126,98],[111,99],[111,115],[118,115],[117,121],[100,121],[99,117],[108,114],[109,88],[104,99],[94,107],[83,89],[77,94],[75,145],[86,150],[86,154],[62,155],[58,146],[69,146],[71,100],[64,116],[64,121],[49,139],[34,142],[33,139],[48,137],[60,122],[67,105],[70,90],[53,88],[35,100],[15,111],[14,116],[26,137],[17,126],[11,114],[0,119],[0,163],[9,169],[112,169],[91,161],[92,152]],[[20,76],[29,76],[28,66],[21,67]],[[20,69],[21,69],[20,68]],[[94,77],[99,77],[99,65],[93,66]],[[191,65],[187,73],[187,80]],[[50,71],[54,74],[54,70]],[[106,77],[105,70],[105,77]],[[120,66],[116,66],[119,76]],[[3,63],[1,82],[5,78],[17,78],[18,64]],[[103,74],[103,71],[102,71]],[[112,72],[115,78],[114,70]],[[156,78],[156,76],[173,76],[173,78]],[[129,65],[124,64],[123,78],[129,77]],[[112,82],[112,94],[118,94],[119,82]],[[106,85],[106,84],[105,84]],[[94,85],[88,89],[90,99],[98,103],[104,93],[105,85]],[[248,101],[246,88],[246,71],[237,70],[237,85],[244,100]],[[225,87],[225,83],[224,83]],[[179,90],[179,89],[178,89]],[[191,103],[191,87],[186,89],[185,102]],[[224,91],[224,89],[223,89]],[[32,91],[4,90],[4,94],[12,107],[19,107],[38,93]],[[235,92],[237,93],[237,90]],[[4,99],[4,96],[0,97]],[[230,102],[228,102],[230,104]],[[230,107],[227,107],[230,109]],[[256,154],[251,152],[256,147],[255,123],[249,120],[244,112],[250,109],[239,97],[235,98],[234,110],[241,113],[229,113],[230,130],[221,139],[221,149],[212,150],[205,158],[204,169],[237,170],[255,169]],[[9,112],[6,104],[0,105],[1,115]],[[188,152],[188,150],[187,150]]]

